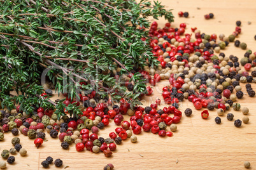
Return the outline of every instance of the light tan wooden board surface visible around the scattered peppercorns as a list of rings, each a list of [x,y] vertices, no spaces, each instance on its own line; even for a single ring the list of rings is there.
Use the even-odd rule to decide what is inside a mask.
[[[190,0],[162,0],[169,9],[174,9],[175,22],[174,27],[180,23],[187,23],[187,32],[191,27],[197,27],[201,32],[206,34],[224,33],[226,36],[232,34],[236,27],[236,20],[241,20],[242,32],[238,39],[246,42],[248,48],[256,51],[256,1],[239,1],[239,0],[215,0],[215,1],[190,1]],[[200,10],[199,10],[200,8]],[[178,11],[188,11],[189,18],[179,18]],[[204,15],[213,13],[215,17],[211,20],[204,20]],[[248,25],[248,21],[252,22]],[[159,20],[159,26],[162,27],[164,18]],[[245,50],[234,47],[231,43],[225,54],[243,57]],[[155,101],[163,86],[169,84],[162,81],[159,88],[154,88],[154,95],[145,98],[145,106]],[[245,85],[245,84],[244,84]],[[243,85],[243,91],[245,91]],[[256,86],[253,84],[253,89]],[[250,98],[245,95],[242,100],[238,100],[241,107],[250,109],[250,123],[243,124],[241,128],[234,126],[234,121],[227,121],[226,115],[229,112],[234,114],[234,119],[242,119],[243,114],[238,111],[229,110],[222,116],[222,124],[215,124],[214,119],[217,117],[216,109],[210,112],[207,120],[201,118],[201,111],[195,110],[192,103],[185,100],[181,103],[180,110],[183,112],[190,107],[193,110],[191,117],[183,115],[178,125],[178,130],[169,138],[160,138],[157,134],[141,133],[138,135],[138,142],[131,143],[130,140],[123,141],[122,145],[117,146],[117,150],[110,158],[104,157],[103,153],[92,154],[85,150],[76,152],[75,144],[71,145],[69,150],[63,150],[60,147],[59,139],[52,139],[46,134],[46,140],[43,146],[37,149],[33,141],[27,136],[19,134],[21,145],[27,149],[27,156],[20,157],[15,155],[15,164],[7,165],[6,169],[43,169],[41,162],[48,156],[53,159],[62,159],[64,165],[57,169],[103,169],[103,167],[112,163],[115,169],[245,169],[243,162],[251,162],[250,169],[256,169],[256,116],[255,116],[255,97]],[[253,105],[254,104],[254,105]],[[125,117],[128,119],[128,117]],[[108,137],[115,126],[113,120],[110,125],[99,132],[99,136]],[[167,128],[169,130],[169,127]],[[0,142],[0,152],[4,149],[10,149],[12,134],[5,134],[4,141]],[[129,149],[129,150],[128,150]],[[141,157],[141,155],[143,157]],[[1,160],[1,159],[0,159]],[[178,163],[177,163],[178,160]],[[51,169],[56,167],[52,164]]]

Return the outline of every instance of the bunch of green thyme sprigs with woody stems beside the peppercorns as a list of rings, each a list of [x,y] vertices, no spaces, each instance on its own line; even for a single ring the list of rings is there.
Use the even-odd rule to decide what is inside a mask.
[[[119,75],[131,74],[134,69],[158,64],[147,41],[141,40],[148,35],[148,16],[164,16],[173,22],[171,11],[158,2],[143,0],[2,1],[2,107],[11,110],[15,101],[27,114],[39,106],[53,108],[55,103],[39,96],[42,74],[58,93],[68,93],[72,100],[79,100],[81,90],[96,90],[101,98],[110,95],[112,101],[125,98],[136,105],[139,95],[146,93],[145,78],[134,74],[131,80],[136,90],[127,93],[115,75],[117,69]],[[13,89],[21,94],[10,96]],[[63,115],[65,106],[59,102],[56,107],[58,115]],[[72,104],[67,110],[81,114]]]

